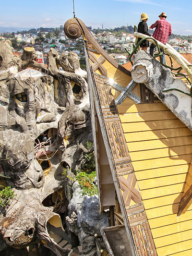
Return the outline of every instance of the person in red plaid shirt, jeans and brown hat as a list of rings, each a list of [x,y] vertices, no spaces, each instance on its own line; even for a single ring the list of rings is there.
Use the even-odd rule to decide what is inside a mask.
[[[166,20],[167,14],[162,12],[159,15],[159,20],[156,23],[152,24],[149,28],[156,28],[155,32],[153,33],[153,37],[163,44],[167,44],[168,37],[171,35],[171,24]],[[156,47],[155,44],[151,44],[150,46],[150,55],[153,57],[154,48]],[[163,51],[162,49],[160,49]],[[165,53],[162,54],[162,61],[165,63]]]

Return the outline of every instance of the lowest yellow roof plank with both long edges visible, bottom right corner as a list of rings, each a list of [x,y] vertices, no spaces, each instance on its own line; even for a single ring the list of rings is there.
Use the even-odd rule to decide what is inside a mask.
[[[191,256],[188,254],[188,250],[192,248],[192,240],[183,241],[177,244],[170,244],[165,247],[156,248],[158,256],[168,256],[174,255],[178,252],[181,252],[180,256]],[[183,252],[183,254],[182,254]]]

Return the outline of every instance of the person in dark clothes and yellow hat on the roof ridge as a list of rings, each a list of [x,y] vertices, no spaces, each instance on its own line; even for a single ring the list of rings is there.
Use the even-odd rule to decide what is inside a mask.
[[[148,20],[148,16],[146,13],[142,13],[141,14],[141,22],[138,24],[138,29],[137,29],[137,32],[139,33],[142,33],[142,34],[145,34],[149,37],[151,37],[151,35],[148,33],[148,26],[147,26],[147,20]],[[137,43],[141,40],[142,38],[138,37],[138,41]],[[140,47],[142,50],[147,50],[147,47],[149,47],[149,41],[147,40],[144,40],[141,44],[140,44]]]

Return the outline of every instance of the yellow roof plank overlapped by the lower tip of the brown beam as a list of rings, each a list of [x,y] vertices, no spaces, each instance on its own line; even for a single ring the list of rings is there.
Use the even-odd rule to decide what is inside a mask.
[[[150,225],[151,229],[156,229],[158,227],[164,227],[167,225],[186,221],[189,219],[192,219],[192,210],[186,211],[186,213],[181,214],[180,217],[177,217],[177,213],[175,213],[175,214],[172,213],[170,215],[149,219],[149,225]]]

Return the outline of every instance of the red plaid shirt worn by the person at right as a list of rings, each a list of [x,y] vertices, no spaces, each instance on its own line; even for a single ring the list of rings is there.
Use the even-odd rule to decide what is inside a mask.
[[[167,44],[168,37],[171,35],[171,24],[166,21],[166,19],[157,20],[156,23],[151,25],[151,28],[154,28],[155,32],[153,37],[163,44]]]

